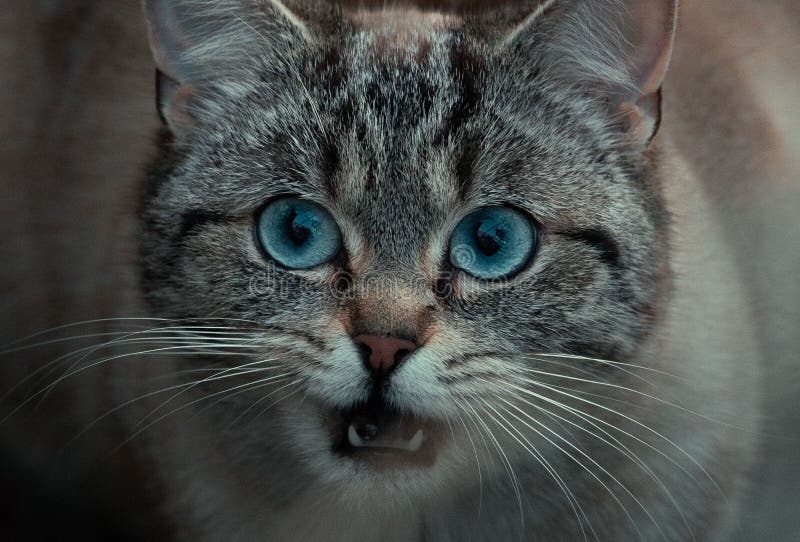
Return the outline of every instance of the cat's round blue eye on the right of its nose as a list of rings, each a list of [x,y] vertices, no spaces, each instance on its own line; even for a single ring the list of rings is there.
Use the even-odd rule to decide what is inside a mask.
[[[452,264],[479,279],[518,273],[536,248],[536,228],[509,207],[483,207],[465,217],[450,239]]]

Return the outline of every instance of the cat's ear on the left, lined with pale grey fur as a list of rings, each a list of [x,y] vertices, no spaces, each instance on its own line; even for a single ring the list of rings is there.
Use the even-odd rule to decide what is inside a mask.
[[[246,91],[257,59],[279,62],[310,40],[279,0],[142,0],[157,66],[157,105],[176,135]]]

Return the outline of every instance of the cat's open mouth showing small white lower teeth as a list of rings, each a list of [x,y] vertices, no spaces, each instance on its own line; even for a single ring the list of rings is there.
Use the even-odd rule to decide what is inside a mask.
[[[433,466],[440,433],[380,399],[331,413],[334,453],[378,469]]]

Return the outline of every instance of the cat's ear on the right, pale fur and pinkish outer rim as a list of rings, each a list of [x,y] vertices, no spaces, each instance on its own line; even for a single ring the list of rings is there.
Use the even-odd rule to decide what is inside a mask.
[[[508,36],[507,46],[534,47],[547,77],[608,104],[625,141],[644,150],[661,121],[677,5],[547,0]]]

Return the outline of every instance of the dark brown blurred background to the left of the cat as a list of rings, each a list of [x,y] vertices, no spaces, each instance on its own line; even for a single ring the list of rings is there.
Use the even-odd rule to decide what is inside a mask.
[[[0,81],[2,349],[131,306],[137,185],[159,125],[139,3],[4,0]],[[3,355],[0,397],[79,346]],[[101,452],[113,426],[66,446],[110,404],[106,376],[89,371],[0,424],[1,539],[163,539],[135,460]]]

